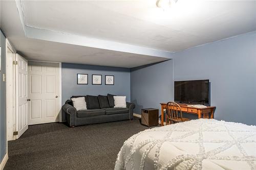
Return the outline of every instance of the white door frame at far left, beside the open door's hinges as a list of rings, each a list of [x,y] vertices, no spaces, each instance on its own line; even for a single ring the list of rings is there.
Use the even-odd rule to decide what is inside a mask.
[[[11,45],[11,43],[6,39],[6,57],[8,57],[8,49],[13,53],[12,56],[12,62],[9,63],[8,59],[6,59],[6,66],[12,65],[12,82],[10,82],[11,88],[9,88],[9,85],[6,86],[6,99],[10,99],[9,96],[11,97],[11,103],[12,107],[6,108],[6,134],[7,134],[7,141],[9,140],[15,140],[16,136],[13,135],[13,132],[16,131],[16,77],[15,77],[15,65],[13,64],[13,61],[15,61],[16,57],[16,51]],[[6,70],[6,75],[9,77],[10,72],[7,69]],[[9,122],[10,120],[10,122]]]

